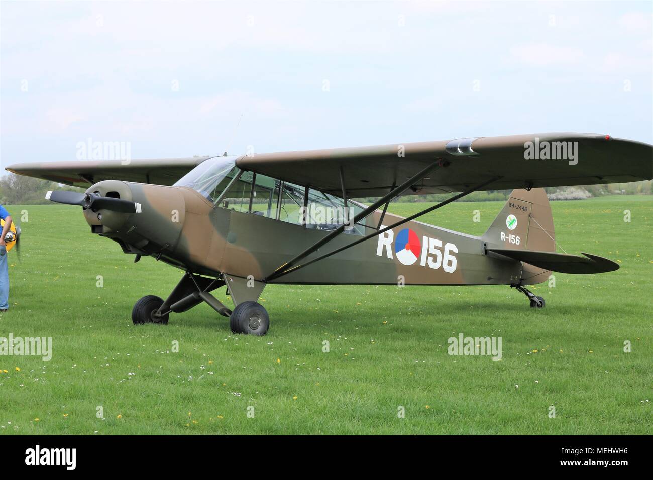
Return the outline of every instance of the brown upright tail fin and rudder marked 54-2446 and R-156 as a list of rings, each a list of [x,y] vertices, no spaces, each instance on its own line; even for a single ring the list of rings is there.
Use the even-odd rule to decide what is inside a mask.
[[[553,216],[544,189],[513,190],[481,238],[488,248],[556,251]],[[549,270],[524,263],[522,278],[528,284],[540,283],[549,278]]]

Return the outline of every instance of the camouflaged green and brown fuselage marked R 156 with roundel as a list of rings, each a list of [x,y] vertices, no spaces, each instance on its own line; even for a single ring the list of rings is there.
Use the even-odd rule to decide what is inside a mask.
[[[115,192],[142,205],[141,213],[129,215],[85,210],[93,232],[116,240],[125,253],[151,255],[206,276],[263,280],[329,233],[328,226],[223,208],[188,187],[110,180],[89,191]],[[306,261],[373,232],[381,215],[373,212]],[[385,214],[383,226],[400,219]],[[409,221],[270,283],[494,285],[518,280],[520,263],[487,254],[486,247],[480,237]]]

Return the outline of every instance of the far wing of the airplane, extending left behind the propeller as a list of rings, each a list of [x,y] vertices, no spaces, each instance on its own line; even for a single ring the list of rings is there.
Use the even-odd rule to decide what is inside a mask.
[[[16,163],[6,169],[16,174],[75,187],[88,187],[101,180],[172,185],[208,158],[130,160],[129,163],[120,160]]]

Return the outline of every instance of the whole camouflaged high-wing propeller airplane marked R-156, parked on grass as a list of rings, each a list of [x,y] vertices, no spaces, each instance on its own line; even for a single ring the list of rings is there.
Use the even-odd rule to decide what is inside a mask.
[[[619,268],[597,255],[558,253],[544,187],[651,180],[653,146],[610,135],[541,133],[278,153],[146,160],[22,163],[7,170],[88,187],[50,191],[82,206],[91,233],[135,262],[149,255],[183,270],[172,293],[136,301],[132,320],[168,323],[202,302],[232,332],[264,335],[268,283],[509,285],[550,272]],[[90,186],[89,186],[90,185]],[[474,191],[513,189],[482,236],[417,218]],[[401,195],[449,196],[407,218]],[[377,198],[369,205],[355,199]],[[212,291],[225,286],[233,310]]]

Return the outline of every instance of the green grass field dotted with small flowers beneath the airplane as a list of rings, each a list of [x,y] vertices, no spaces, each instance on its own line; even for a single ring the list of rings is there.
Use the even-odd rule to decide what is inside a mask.
[[[422,220],[481,234],[501,207],[455,203]],[[273,285],[261,300],[272,321],[263,338],[234,336],[206,305],[167,326],[133,326],[134,302],[167,296],[180,271],[133,263],[89,232],[80,208],[8,210],[29,218],[20,262],[8,254],[0,336],[52,337],[53,356],[0,356],[0,434],[652,432],[652,197],[552,203],[568,253],[621,268],[556,274],[555,287],[534,288],[543,310],[505,286]],[[503,359],[447,355],[460,332],[502,337]]]

